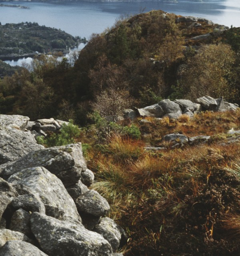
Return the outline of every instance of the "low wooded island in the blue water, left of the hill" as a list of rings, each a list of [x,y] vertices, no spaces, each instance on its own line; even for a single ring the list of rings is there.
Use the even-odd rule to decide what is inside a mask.
[[[36,22],[0,23],[0,60],[54,52],[68,53],[70,48],[86,42],[86,38],[74,37],[60,29],[40,26]]]

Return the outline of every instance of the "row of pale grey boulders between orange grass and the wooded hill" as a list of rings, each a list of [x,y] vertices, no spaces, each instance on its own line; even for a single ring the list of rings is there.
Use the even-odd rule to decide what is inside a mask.
[[[177,119],[182,114],[193,117],[194,114],[201,111],[227,111],[237,110],[239,106],[223,100],[223,97],[214,99],[210,96],[204,96],[196,99],[196,102],[190,100],[161,100],[157,104],[145,108],[137,108],[138,116],[153,116],[155,118],[169,117]]]

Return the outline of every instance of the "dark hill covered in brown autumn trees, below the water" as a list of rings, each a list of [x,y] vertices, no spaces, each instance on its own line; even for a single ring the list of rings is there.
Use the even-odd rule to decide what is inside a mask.
[[[1,112],[32,119],[69,112],[83,124],[91,102],[110,93],[135,107],[161,98],[195,100],[203,95],[238,103],[239,30],[162,11],[120,20],[111,30],[93,35],[74,66],[43,55],[31,71],[23,68],[5,77]],[[52,38],[52,44],[59,40]]]

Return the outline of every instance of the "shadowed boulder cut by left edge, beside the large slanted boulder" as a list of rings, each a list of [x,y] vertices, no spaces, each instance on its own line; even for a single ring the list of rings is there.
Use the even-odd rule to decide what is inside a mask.
[[[4,213],[14,196],[17,195],[18,193],[12,187],[12,185],[6,182],[6,180],[0,178],[0,219],[2,218],[2,214]]]

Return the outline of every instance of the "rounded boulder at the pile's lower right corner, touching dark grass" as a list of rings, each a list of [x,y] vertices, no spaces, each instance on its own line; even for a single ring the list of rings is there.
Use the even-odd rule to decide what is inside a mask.
[[[101,234],[112,246],[112,250],[116,252],[120,245],[121,230],[116,222],[108,217],[102,218],[100,223],[94,228],[94,232]]]

